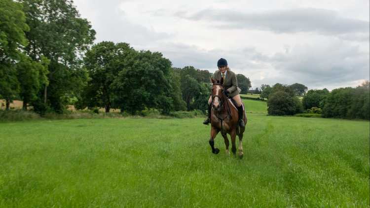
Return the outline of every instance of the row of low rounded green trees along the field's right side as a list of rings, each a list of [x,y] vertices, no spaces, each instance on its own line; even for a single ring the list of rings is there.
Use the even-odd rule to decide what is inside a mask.
[[[284,85],[276,83],[272,87],[261,85],[261,98],[267,98],[268,114],[294,115],[308,112],[322,114],[325,118],[347,118],[370,120],[369,81],[360,86],[308,90],[302,84]],[[304,95],[302,101],[297,95]]]

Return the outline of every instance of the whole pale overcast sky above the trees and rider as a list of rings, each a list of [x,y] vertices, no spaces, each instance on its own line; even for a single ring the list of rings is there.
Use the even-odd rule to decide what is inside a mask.
[[[217,69],[221,57],[252,87],[309,89],[369,80],[369,0],[74,0],[96,43],[159,51],[173,67]]]

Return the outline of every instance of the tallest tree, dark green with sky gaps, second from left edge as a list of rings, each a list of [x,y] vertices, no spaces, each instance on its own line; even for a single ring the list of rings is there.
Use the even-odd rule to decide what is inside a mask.
[[[20,0],[30,31],[25,52],[36,61],[50,60],[49,85],[38,99],[61,112],[86,81],[81,57],[95,38],[90,23],[80,17],[72,0]],[[40,102],[38,102],[40,103]]]

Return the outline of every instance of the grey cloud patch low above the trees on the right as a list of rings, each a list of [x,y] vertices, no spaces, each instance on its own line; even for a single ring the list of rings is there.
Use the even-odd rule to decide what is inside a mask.
[[[350,81],[369,79],[369,53],[343,41],[325,46],[297,46],[289,53],[271,57],[275,69],[285,80],[300,82],[311,88],[321,85],[340,86]],[[296,81],[294,81],[296,80]]]

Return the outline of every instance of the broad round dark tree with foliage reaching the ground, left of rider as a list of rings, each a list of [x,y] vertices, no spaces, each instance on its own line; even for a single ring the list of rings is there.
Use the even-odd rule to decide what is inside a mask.
[[[169,113],[174,109],[171,96],[171,62],[159,52],[140,51],[132,65],[114,79],[114,104],[132,114],[147,108]]]

